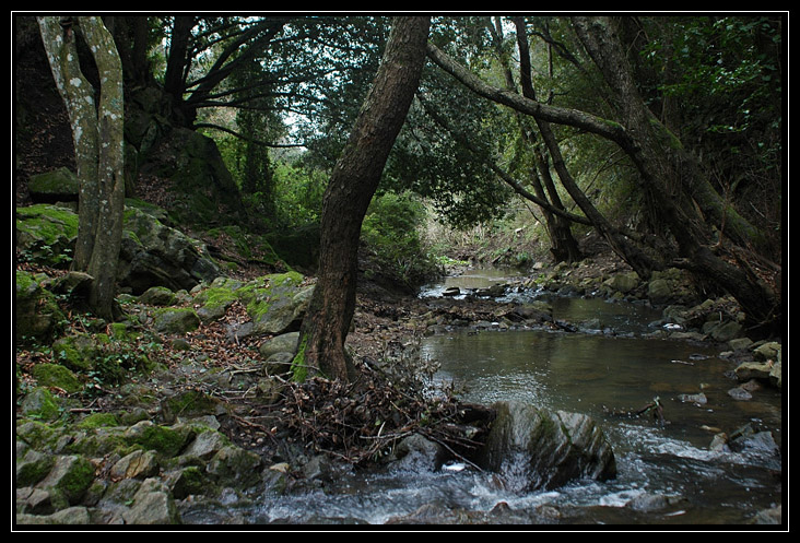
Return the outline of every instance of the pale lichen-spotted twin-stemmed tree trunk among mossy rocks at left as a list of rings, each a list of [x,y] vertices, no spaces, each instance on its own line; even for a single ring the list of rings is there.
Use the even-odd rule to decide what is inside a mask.
[[[79,192],[78,244],[72,269],[94,281],[90,307],[114,318],[117,262],[122,238],[125,178],[122,64],[99,17],[38,17],[42,40],[72,127]],[[89,46],[99,76],[99,103],[81,71],[75,34]]]

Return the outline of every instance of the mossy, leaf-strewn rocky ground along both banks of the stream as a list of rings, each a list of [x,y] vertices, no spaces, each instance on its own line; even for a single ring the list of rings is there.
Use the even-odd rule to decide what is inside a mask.
[[[130,214],[141,217],[139,211]],[[657,307],[662,319],[651,335],[717,349],[730,361],[731,390],[739,391],[733,393],[744,398],[755,387],[784,386],[780,340],[746,338],[731,299],[699,298],[678,270],[643,282],[611,260],[540,265],[489,290],[432,297],[364,282],[349,335],[361,378],[349,385],[321,378],[296,383],[291,369],[297,327],[313,278],[291,271],[230,276],[189,243],[179,265],[170,261],[188,270],[186,275],[172,276],[195,285],[145,287],[142,278],[161,272],[153,258],[143,257],[145,229],[140,231],[129,238],[128,268],[138,271],[130,273],[129,294],[119,298],[119,322],[81,311],[80,274],[36,259],[17,265],[17,529],[246,524],[254,520],[244,511],[269,496],[326,492],[331,482],[363,471],[436,473],[459,464],[502,476],[505,458],[520,450],[528,462],[527,488],[612,479],[614,451],[588,415],[515,402],[481,405],[460,400],[448,387],[431,389],[437,367],[420,356],[425,337],[454,329],[617,333],[554,318],[551,304],[519,297],[530,292]],[[17,250],[19,241],[17,235]],[[25,243],[30,253],[45,245]],[[163,258],[164,251],[150,255]],[[741,449],[755,440],[772,448],[783,465],[781,429],[719,430],[709,448]],[[779,496],[781,471],[773,471]],[[780,523],[780,499],[746,517]],[[311,519],[306,522],[331,521]],[[552,507],[522,511],[507,504],[483,512],[423,507],[385,521],[561,522],[569,516]]]

